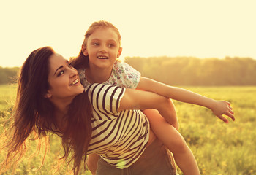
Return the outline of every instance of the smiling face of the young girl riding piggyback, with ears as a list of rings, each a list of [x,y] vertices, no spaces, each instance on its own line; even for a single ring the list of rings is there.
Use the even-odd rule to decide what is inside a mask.
[[[112,69],[121,55],[118,35],[112,28],[97,28],[88,38],[83,54],[89,55],[90,69]]]

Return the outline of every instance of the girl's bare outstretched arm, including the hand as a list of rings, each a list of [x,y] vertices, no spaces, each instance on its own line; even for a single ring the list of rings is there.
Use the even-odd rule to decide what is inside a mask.
[[[232,107],[227,101],[216,101],[214,99],[201,96],[200,94],[193,93],[192,91],[165,85],[161,82],[157,82],[146,77],[140,77],[140,82],[137,88],[154,92],[177,101],[205,106],[208,109],[211,109],[214,115],[219,117],[219,119],[223,120],[225,123],[228,123],[228,120],[222,116],[223,114],[227,115],[232,120],[235,120]]]

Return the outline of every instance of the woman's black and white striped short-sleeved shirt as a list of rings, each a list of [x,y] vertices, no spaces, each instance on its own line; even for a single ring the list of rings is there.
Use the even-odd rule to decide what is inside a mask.
[[[135,163],[148,143],[149,123],[140,110],[118,112],[125,88],[92,84],[86,87],[93,118],[87,154],[97,153],[116,168]]]

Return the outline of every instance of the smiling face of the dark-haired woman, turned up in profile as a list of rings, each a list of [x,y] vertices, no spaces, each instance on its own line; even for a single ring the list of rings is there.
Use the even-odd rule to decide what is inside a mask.
[[[54,54],[49,60],[48,82],[50,89],[45,94],[50,99],[73,99],[83,93],[83,85],[80,83],[78,71],[69,65],[61,55]]]

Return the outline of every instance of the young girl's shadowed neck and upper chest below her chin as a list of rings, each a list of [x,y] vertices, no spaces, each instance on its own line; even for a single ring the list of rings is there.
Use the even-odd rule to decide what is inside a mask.
[[[112,72],[110,69],[86,69],[86,80],[90,83],[102,83],[108,81]]]

